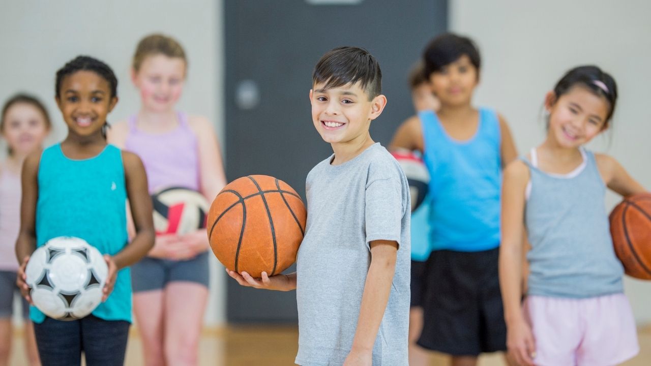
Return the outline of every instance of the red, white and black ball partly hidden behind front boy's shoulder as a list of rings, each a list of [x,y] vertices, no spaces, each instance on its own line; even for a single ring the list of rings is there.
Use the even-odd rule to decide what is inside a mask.
[[[428,184],[430,183],[430,172],[427,170],[425,163],[419,152],[409,150],[396,150],[391,152],[402,171],[404,171],[407,181],[409,182],[409,192],[411,193],[411,212],[414,212],[427,195]]]

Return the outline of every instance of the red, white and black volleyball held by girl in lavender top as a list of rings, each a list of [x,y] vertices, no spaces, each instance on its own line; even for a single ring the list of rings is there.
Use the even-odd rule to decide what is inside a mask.
[[[171,187],[152,195],[156,234],[184,235],[206,227],[208,201],[201,193]]]

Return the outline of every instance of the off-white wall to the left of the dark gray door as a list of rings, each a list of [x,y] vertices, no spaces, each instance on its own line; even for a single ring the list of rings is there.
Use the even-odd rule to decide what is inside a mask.
[[[205,115],[223,138],[223,17],[221,0],[6,1],[0,10],[0,101],[18,91],[47,102],[54,121],[49,142],[66,135],[54,103],[55,72],[80,54],[109,64],[118,77],[116,122],[137,111],[129,78],[138,40],[148,33],[174,36],[186,49],[189,74],[179,109]],[[222,140],[223,143],[223,140]],[[4,148],[2,148],[4,150]],[[224,272],[212,263],[206,324],[225,320]]]

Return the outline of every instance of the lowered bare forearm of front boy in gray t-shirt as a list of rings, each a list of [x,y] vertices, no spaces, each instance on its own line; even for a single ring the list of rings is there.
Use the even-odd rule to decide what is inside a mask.
[[[395,256],[371,260],[359,309],[353,349],[372,351],[389,302],[395,266]]]

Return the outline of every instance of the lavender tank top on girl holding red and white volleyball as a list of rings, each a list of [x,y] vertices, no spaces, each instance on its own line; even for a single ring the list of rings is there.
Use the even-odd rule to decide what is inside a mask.
[[[149,193],[168,187],[199,190],[197,137],[190,130],[185,113],[178,112],[178,127],[163,134],[139,130],[135,115],[130,117],[128,124],[125,150],[143,160]]]

